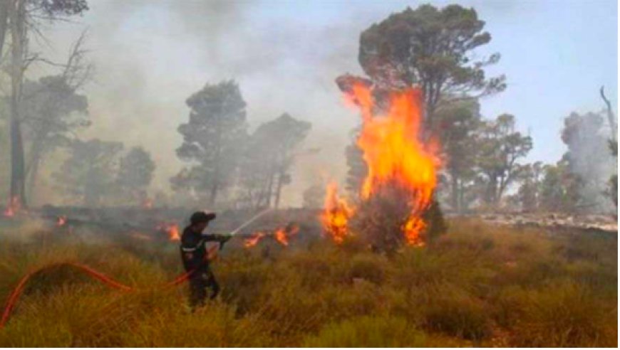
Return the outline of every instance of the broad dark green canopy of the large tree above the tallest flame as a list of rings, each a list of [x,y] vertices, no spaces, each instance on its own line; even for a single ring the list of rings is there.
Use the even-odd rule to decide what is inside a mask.
[[[420,85],[428,119],[448,95],[489,95],[505,89],[505,77],[487,78],[495,53],[477,60],[475,49],[491,41],[475,9],[425,4],[392,14],[360,36],[358,60],[371,79],[388,87]]]

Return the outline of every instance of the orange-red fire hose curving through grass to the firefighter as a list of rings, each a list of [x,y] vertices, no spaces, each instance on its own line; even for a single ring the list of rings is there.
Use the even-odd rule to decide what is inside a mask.
[[[212,249],[210,250],[209,253],[214,253],[214,251],[215,249]],[[98,280],[99,282],[102,282],[104,285],[107,285],[108,287],[114,288],[116,290],[122,290],[124,292],[135,292],[138,290],[135,287],[123,285],[123,283],[118,282],[117,280],[113,280],[112,278],[106,275],[103,275],[103,273],[98,272],[97,270],[94,270],[92,267],[88,267],[80,263],[67,262],[67,263],[55,263],[55,264],[46,265],[36,270],[32,270],[26,273],[24,277],[21,277],[21,280],[19,280],[13,292],[11,292],[11,294],[9,295],[9,298],[6,299],[6,304],[4,306],[4,312],[2,312],[2,319],[0,319],[0,329],[4,328],[6,322],[9,321],[11,312],[13,312],[13,309],[15,305],[17,304],[19,297],[21,296],[21,293],[24,292],[24,288],[26,287],[26,282],[28,282],[31,279],[31,277],[33,275],[36,275],[38,272],[48,270],[53,267],[59,267],[59,266],[75,267],[79,271],[86,273],[86,275],[93,277],[95,280]],[[182,282],[185,282],[188,277],[190,277],[192,272],[194,271],[192,270],[190,272],[185,272],[182,275],[179,275],[178,277],[176,277],[174,280],[171,280],[170,282],[166,282],[165,284],[160,285],[159,288],[168,288],[168,287],[175,287],[176,285],[180,285]]]

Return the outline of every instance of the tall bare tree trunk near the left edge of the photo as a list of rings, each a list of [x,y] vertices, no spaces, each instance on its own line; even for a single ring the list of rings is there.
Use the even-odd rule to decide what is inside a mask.
[[[9,8],[11,20],[11,201],[26,207],[24,141],[21,136],[19,101],[24,66],[25,0],[14,0]]]

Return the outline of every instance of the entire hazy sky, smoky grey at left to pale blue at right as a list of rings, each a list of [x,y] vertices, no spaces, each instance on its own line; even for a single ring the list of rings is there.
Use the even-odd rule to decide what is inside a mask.
[[[98,0],[76,23],[51,29],[48,55],[61,58],[88,28],[95,64],[88,85],[93,127],[87,137],[142,145],[154,154],[156,185],[180,169],[177,125],[187,121],[185,99],[205,83],[234,78],[252,127],[282,112],[313,123],[295,182],[284,193],[298,204],[314,179],[346,170],[343,147],[358,121],[343,107],[334,78],[361,73],[359,33],[406,6],[430,2],[473,6],[492,41],[481,56],[499,52],[490,75],[508,88],[482,100],[485,117],[507,112],[534,138],[529,160],[557,161],[564,152],[562,119],[572,110],[604,107],[605,85],[616,103],[617,4],[596,1],[198,1]]]

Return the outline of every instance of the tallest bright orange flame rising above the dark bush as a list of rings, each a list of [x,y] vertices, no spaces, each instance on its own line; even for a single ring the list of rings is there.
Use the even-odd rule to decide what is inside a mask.
[[[363,152],[368,175],[363,181],[361,198],[370,198],[383,186],[405,189],[411,210],[403,234],[408,244],[423,245],[420,233],[426,223],[421,216],[433,199],[441,164],[438,143],[434,139],[426,143],[420,140],[421,90],[390,92],[386,108],[377,104],[367,84],[354,82],[346,94],[362,115],[357,145]]]

